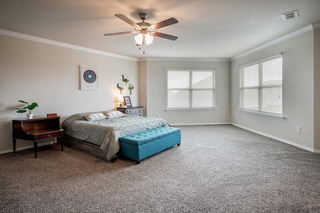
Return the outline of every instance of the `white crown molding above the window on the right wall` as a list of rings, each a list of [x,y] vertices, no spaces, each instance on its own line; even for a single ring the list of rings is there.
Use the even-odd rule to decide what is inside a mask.
[[[320,25],[319,23],[315,23],[315,24]],[[279,42],[281,42],[281,41],[284,41],[284,40],[286,40],[286,39],[292,38],[292,37],[294,37],[294,36],[296,36],[296,35],[299,35],[299,34],[302,34],[302,33],[304,33],[304,32],[307,32],[307,31],[313,29],[312,25],[313,25],[313,24],[309,24],[309,25],[307,25],[307,26],[305,26],[305,27],[303,27],[303,28],[301,28],[301,29],[298,29],[298,30],[296,30],[296,31],[294,31],[294,32],[291,32],[291,33],[287,34],[287,35],[284,35],[284,36],[282,36],[282,37],[279,37],[279,38],[277,38],[277,39],[275,39],[275,40],[273,40],[273,41],[270,41],[270,42],[268,42],[268,43],[266,43],[266,44],[264,44],[264,45],[262,45],[262,46],[259,46],[259,47],[255,48],[255,49],[251,49],[251,50],[249,50],[249,51],[247,51],[247,52],[244,52],[244,53],[239,54],[239,55],[237,55],[237,56],[235,56],[235,57],[232,57],[232,58],[230,58],[230,61],[234,61],[235,59],[242,58],[242,57],[244,57],[244,56],[246,56],[246,55],[249,55],[249,54],[251,54],[251,53],[254,53],[254,52],[256,52],[256,51],[259,51],[259,50],[261,50],[261,49],[264,49],[264,48],[266,48],[266,47],[268,47],[268,46],[274,45],[274,44],[279,43]]]

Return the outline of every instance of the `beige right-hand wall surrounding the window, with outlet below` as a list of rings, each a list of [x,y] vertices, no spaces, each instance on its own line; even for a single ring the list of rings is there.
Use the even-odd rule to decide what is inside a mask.
[[[239,71],[234,68],[283,52],[284,120],[239,112]],[[313,30],[231,61],[232,123],[304,149],[313,149]],[[318,95],[318,94],[317,94]],[[236,117],[235,117],[236,114]],[[301,134],[296,133],[301,127]]]

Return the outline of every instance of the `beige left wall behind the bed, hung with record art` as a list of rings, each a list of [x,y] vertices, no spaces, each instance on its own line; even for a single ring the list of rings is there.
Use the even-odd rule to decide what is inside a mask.
[[[120,96],[116,84],[127,74],[134,85],[131,102],[139,104],[137,61],[5,35],[0,35],[0,47],[0,153],[13,149],[11,119],[26,117],[14,110],[17,100],[37,102],[34,116],[57,113],[62,122],[75,113],[114,109]],[[80,90],[80,65],[99,68],[98,90]],[[17,140],[17,149],[30,145]]]

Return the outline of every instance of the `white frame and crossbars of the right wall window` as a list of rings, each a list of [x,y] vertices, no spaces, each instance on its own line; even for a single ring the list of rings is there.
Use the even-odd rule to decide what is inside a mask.
[[[263,73],[262,64],[266,63],[266,62],[269,62],[269,61],[272,61],[272,60],[279,59],[279,58],[281,58],[281,72],[279,73],[279,78],[281,79],[281,81],[279,81],[278,84],[274,84],[274,85],[267,85],[267,86],[263,85],[263,74],[265,74],[265,72]],[[248,80],[249,77],[247,77],[244,80],[243,71],[244,71],[245,68],[249,68],[249,67],[252,67],[252,66],[257,66],[258,67],[257,68],[257,70],[258,70],[257,71],[258,84],[254,85],[254,86],[244,86],[243,85],[244,81]],[[280,77],[280,75],[281,75],[281,77]],[[256,62],[252,62],[252,63],[246,64],[246,65],[239,66],[239,109],[238,109],[238,111],[249,113],[249,114],[266,116],[266,117],[284,119],[284,117],[283,117],[283,99],[282,99],[282,95],[283,95],[283,92],[282,92],[282,87],[283,87],[282,75],[283,75],[282,55],[275,55],[275,56],[268,57],[268,58],[265,58],[265,59],[262,59],[262,60],[259,60],[259,61],[256,61]],[[250,76],[250,78],[251,77],[252,76]],[[254,78],[254,80],[256,80],[256,79]],[[279,95],[281,95],[281,113],[263,111],[263,93],[262,93],[263,88],[278,88],[279,89],[279,93],[280,93]],[[257,90],[257,92],[256,92],[257,96],[258,96],[257,100],[256,100],[258,102],[257,103],[257,110],[248,109],[248,108],[244,107],[245,103],[243,103],[244,98],[242,98],[242,91],[244,91],[245,89],[256,89]]]

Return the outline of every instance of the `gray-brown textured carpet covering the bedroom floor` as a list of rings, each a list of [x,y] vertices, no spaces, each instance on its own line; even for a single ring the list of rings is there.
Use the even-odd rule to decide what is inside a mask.
[[[139,165],[57,144],[0,155],[1,213],[320,212],[320,155],[232,125],[179,126]]]

